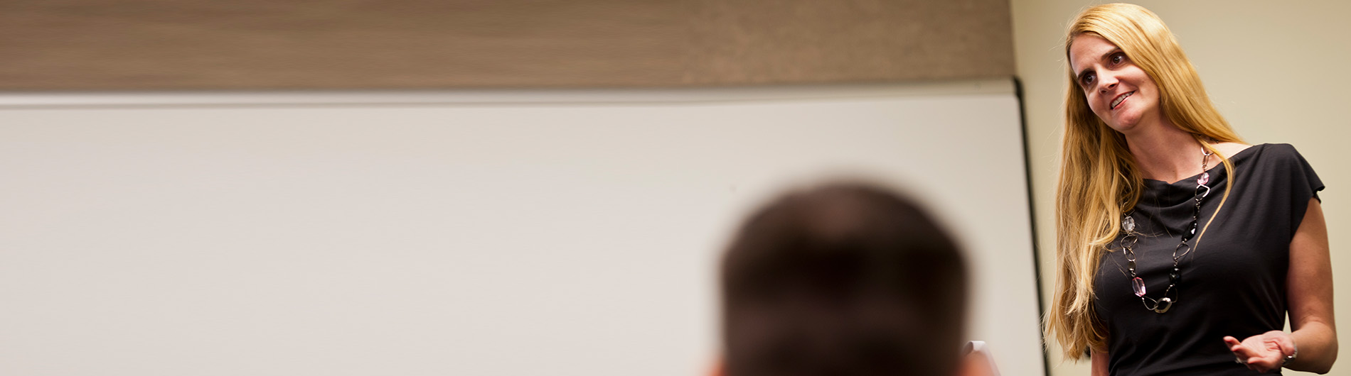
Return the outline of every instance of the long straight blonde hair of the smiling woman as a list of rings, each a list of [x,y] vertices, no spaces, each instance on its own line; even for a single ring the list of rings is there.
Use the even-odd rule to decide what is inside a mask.
[[[1144,70],[1159,86],[1163,115],[1208,151],[1216,152],[1209,140],[1242,142],[1210,102],[1196,67],[1158,15],[1133,4],[1088,8],[1074,18],[1066,32],[1066,61],[1074,38],[1085,34],[1112,42]],[[1056,278],[1052,306],[1046,315],[1046,342],[1054,338],[1066,358],[1079,360],[1090,349],[1106,350],[1106,333],[1093,310],[1093,278],[1100,257],[1108,252],[1106,245],[1117,236],[1121,213],[1139,201],[1144,179],[1127,148],[1125,136],[1093,113],[1073,67],[1066,71],[1065,139],[1055,190]],[[1220,160],[1233,177],[1229,159],[1220,155]],[[1233,179],[1225,181],[1229,183],[1220,199],[1221,208]],[[1201,241],[1200,234],[1196,241],[1193,245]]]

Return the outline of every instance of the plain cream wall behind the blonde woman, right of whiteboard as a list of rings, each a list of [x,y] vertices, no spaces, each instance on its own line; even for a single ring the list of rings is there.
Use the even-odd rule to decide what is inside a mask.
[[[1084,7],[1111,1],[1012,0],[1017,74],[1024,85],[1031,175],[1040,240],[1042,290],[1054,283],[1054,185],[1065,90],[1065,26]],[[1169,24],[1210,97],[1248,143],[1294,144],[1327,185],[1321,194],[1336,275],[1337,321],[1351,322],[1351,1],[1131,1]],[[1050,303],[1050,299],[1047,299]],[[1351,329],[1339,333],[1351,345]],[[1088,375],[1061,363],[1052,375]],[[1346,352],[1343,352],[1346,353]],[[1347,356],[1331,375],[1351,375]],[[1293,373],[1293,372],[1292,372]]]

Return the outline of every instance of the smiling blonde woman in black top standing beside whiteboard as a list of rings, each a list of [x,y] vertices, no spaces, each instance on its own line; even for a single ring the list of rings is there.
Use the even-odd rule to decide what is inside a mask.
[[[1327,372],[1332,270],[1304,158],[1243,144],[1142,7],[1084,11],[1066,55],[1047,342],[1092,353],[1093,375]]]

